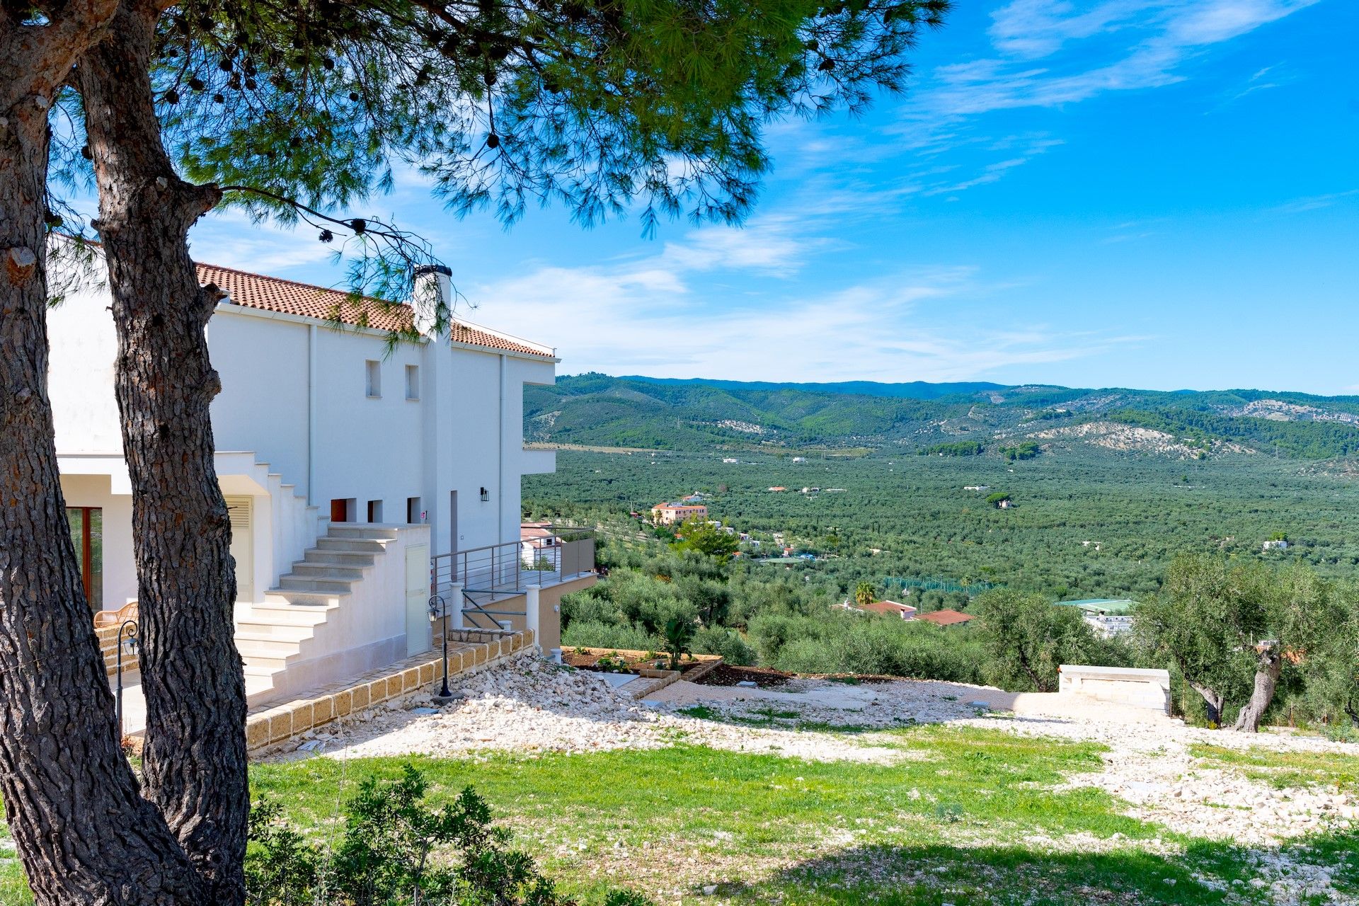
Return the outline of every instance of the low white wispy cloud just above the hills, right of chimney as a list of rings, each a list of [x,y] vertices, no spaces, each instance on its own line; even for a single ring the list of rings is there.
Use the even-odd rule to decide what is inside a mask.
[[[959,266],[912,269],[833,292],[809,291],[799,278],[773,278],[739,297],[713,299],[712,280],[699,289],[692,280],[699,272],[689,264],[694,254],[711,269],[739,262],[739,254],[709,257],[734,238],[733,231],[711,230],[647,259],[544,266],[466,289],[472,297],[496,300],[493,311],[480,315],[488,323],[563,349],[563,372],[953,380],[1136,341],[950,318],[950,310],[966,310],[968,297],[993,289],[981,284],[976,269]]]

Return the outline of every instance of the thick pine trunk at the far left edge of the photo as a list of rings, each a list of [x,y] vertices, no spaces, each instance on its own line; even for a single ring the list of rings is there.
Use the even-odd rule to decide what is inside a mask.
[[[8,27],[0,20],[0,33]],[[57,27],[57,26],[50,26]],[[50,34],[50,33],[49,33]],[[0,54],[16,72],[33,60]],[[33,45],[29,45],[33,46]],[[61,65],[64,77],[69,60]],[[48,105],[0,84],[0,795],[39,906],[193,903],[122,755],[65,516],[48,395]]]

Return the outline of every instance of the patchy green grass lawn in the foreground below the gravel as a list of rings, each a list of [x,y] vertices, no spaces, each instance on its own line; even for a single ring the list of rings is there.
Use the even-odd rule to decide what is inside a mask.
[[[647,751],[409,761],[436,799],[476,786],[518,845],[587,901],[626,886],[658,903],[734,906],[1269,902],[1250,883],[1252,853],[1124,816],[1120,801],[1079,786],[1099,770],[1099,746],[942,727],[875,733],[874,744],[898,747],[904,761],[807,762],[682,739]],[[251,780],[257,797],[325,835],[364,777],[397,777],[406,761],[255,765]],[[1356,844],[1321,837],[1290,854],[1340,867],[1337,887],[1352,895]],[[16,883],[14,863],[0,868],[5,906],[23,902],[11,898]]]

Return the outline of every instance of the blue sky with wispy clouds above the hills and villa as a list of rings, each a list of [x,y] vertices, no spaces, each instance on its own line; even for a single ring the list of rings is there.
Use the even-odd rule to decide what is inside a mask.
[[[368,208],[560,374],[1359,393],[1356,35],[1354,0],[958,0],[904,96],[771,128],[741,230]],[[193,240],[344,280],[311,231]]]

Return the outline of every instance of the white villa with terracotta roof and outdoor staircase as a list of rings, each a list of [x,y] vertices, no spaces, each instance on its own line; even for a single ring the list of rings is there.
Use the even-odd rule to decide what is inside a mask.
[[[523,386],[552,383],[556,352],[458,319],[389,352],[390,329],[432,322],[421,303],[364,303],[363,327],[342,292],[198,276],[227,293],[208,325],[212,421],[251,701],[429,649],[432,591],[455,626],[529,625],[556,645],[561,594],[594,581],[593,542],[548,572],[519,556],[519,479],[556,467],[523,448]],[[417,283],[417,299],[448,297],[446,269]],[[48,316],[61,488],[95,610],[137,598],[109,304],[72,293]]]

